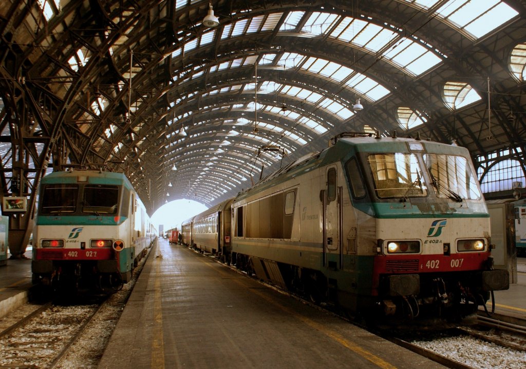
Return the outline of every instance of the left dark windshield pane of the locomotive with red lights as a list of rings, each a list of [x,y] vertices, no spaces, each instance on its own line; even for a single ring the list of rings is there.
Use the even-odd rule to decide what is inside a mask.
[[[78,185],[47,185],[42,192],[42,214],[74,213],[77,208]]]

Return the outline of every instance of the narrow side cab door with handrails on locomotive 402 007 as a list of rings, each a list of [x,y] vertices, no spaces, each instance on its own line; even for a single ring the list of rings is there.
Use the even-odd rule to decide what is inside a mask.
[[[341,268],[341,188],[338,187],[336,166],[326,171],[326,188],[323,196],[323,233],[325,235],[323,264],[329,268]]]

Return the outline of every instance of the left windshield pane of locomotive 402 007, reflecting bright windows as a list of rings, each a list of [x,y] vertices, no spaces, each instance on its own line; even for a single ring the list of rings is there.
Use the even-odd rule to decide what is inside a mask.
[[[427,196],[426,183],[413,153],[372,154],[368,162],[379,198]]]

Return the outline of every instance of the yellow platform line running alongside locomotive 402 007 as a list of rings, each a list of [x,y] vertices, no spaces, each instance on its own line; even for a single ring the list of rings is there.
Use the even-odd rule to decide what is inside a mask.
[[[212,267],[212,265],[214,265],[214,264],[209,264],[209,263],[205,263],[205,264],[208,265],[209,267]],[[233,280],[233,281],[235,281],[238,284],[242,284],[238,280]],[[353,342],[350,342],[349,340],[345,339],[345,337],[341,336],[337,332],[328,330],[325,326],[323,326],[323,325],[321,325],[319,323],[316,323],[312,319],[309,319],[308,317],[305,317],[305,316],[301,316],[297,312],[295,312],[295,311],[293,311],[291,309],[287,309],[285,306],[283,306],[281,304],[278,304],[276,301],[270,299],[269,296],[266,296],[264,293],[261,293],[261,292],[259,292],[257,290],[250,290],[250,292],[252,292],[254,294],[257,294],[261,298],[263,298],[263,299],[267,300],[268,302],[278,306],[278,308],[281,308],[282,310],[284,310],[288,314],[296,316],[300,321],[302,321],[302,322],[310,325],[314,329],[326,334],[327,336],[331,337],[331,339],[337,341],[341,345],[343,345],[343,346],[347,347],[348,349],[354,351],[355,353],[357,353],[358,355],[362,356],[363,358],[366,358],[371,363],[378,365],[380,368],[382,368],[382,369],[397,369],[396,366],[391,365],[387,361],[385,361],[382,358],[376,356],[375,354],[367,351],[366,349],[363,349],[359,345],[357,345],[357,344],[355,344]]]

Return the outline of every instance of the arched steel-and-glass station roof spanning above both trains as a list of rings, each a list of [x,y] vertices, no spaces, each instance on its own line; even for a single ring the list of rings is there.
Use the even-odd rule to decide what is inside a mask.
[[[515,0],[5,0],[3,193],[105,167],[210,205],[342,131],[523,160],[524,29]]]

